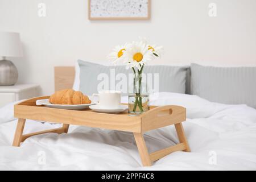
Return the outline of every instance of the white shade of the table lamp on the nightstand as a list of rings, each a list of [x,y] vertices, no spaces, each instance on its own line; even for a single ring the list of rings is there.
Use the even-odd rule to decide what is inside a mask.
[[[22,57],[19,33],[0,31],[0,56]]]

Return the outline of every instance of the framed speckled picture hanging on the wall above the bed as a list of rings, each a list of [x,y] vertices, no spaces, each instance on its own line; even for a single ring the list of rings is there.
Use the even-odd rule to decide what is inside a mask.
[[[88,0],[90,20],[148,20],[151,0]]]

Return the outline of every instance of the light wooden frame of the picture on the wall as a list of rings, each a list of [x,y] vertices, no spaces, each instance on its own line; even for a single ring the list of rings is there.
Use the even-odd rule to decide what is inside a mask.
[[[130,16],[104,16],[104,15],[96,15],[97,12],[94,12],[93,10],[93,2],[92,1],[100,1],[100,0],[88,0],[88,19],[89,20],[149,20],[151,18],[151,0],[143,0],[147,1],[147,5],[144,4],[144,10],[146,10],[146,13],[144,15],[134,15],[135,13],[131,11]],[[117,0],[108,0],[108,1],[117,1]],[[122,0],[119,0],[122,1]],[[123,1],[128,1],[128,0],[123,0]],[[133,1],[133,0],[130,0]],[[94,2],[97,3],[97,2]],[[140,5],[143,6],[143,5]],[[101,11],[101,10],[99,10]],[[141,12],[139,12],[141,13]]]

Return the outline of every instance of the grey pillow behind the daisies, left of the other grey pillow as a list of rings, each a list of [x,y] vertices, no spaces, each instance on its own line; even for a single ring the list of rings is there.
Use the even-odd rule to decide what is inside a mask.
[[[133,74],[131,69],[125,69],[125,66],[123,65],[106,66],[82,60],[78,60],[78,63],[80,67],[80,91],[88,95],[98,93],[98,85],[102,83],[102,76],[104,75],[108,76],[109,78],[113,78],[113,72],[115,76],[117,76],[119,73],[123,73],[127,78],[129,78],[129,73],[131,73],[131,75]],[[188,67],[147,65],[146,67],[144,67],[143,73],[146,75],[147,78],[152,77],[152,84],[149,87],[154,90],[150,89],[150,92],[185,93],[187,69]],[[157,79],[157,75],[154,75],[155,73],[158,73],[159,79]],[[113,81],[113,79],[111,80]],[[159,86],[155,84],[155,80],[159,80]],[[113,90],[113,82],[110,83],[110,79],[108,82],[109,86],[107,89]],[[117,85],[118,82],[118,80],[115,80],[114,85]],[[127,81],[127,89],[129,84],[131,83]]]

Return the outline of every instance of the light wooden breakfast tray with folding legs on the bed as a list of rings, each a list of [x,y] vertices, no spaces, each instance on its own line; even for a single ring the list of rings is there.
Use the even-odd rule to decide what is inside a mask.
[[[171,152],[190,151],[184,129],[181,124],[181,122],[185,121],[186,119],[186,111],[184,107],[171,105],[150,106],[150,110],[148,110],[146,113],[131,116],[127,113],[127,111],[126,113],[120,114],[108,114],[97,113],[90,109],[66,110],[36,105],[36,100],[47,98],[49,98],[49,96],[31,98],[14,106],[14,117],[19,119],[16,127],[13,146],[20,146],[21,142],[34,135],[44,133],[67,133],[69,125],[81,125],[109,130],[133,132],[143,166],[151,166],[152,162],[163,158]],[[60,127],[59,129],[23,134],[26,119],[63,123],[63,127]],[[163,150],[148,154],[143,133],[169,125],[175,125],[180,143],[176,144],[175,146],[164,148]]]

